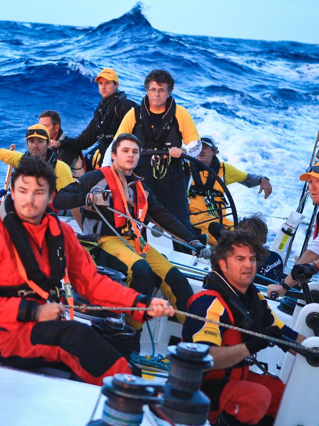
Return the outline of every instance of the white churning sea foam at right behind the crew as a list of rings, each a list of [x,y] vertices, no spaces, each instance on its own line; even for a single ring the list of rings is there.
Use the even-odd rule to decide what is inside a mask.
[[[307,110],[305,107],[302,109]],[[248,189],[240,184],[232,184],[229,190],[237,209],[248,214],[261,211],[265,215],[288,217],[299,203],[303,183],[298,177],[310,161],[317,135],[318,116],[307,116],[305,111],[296,112],[292,108],[284,114],[273,113],[281,126],[266,123],[256,126],[240,118],[220,115],[213,110],[194,108],[192,113],[197,117],[199,133],[212,135],[217,142],[221,160],[239,170],[265,174],[274,185],[299,189],[274,186],[272,194],[265,200],[262,194],[258,194],[259,187]],[[247,109],[241,113],[251,115]],[[270,116],[268,119],[271,121]],[[309,138],[308,146],[305,137]],[[308,204],[305,215],[309,219],[312,206],[311,203]],[[239,217],[247,216],[247,213],[239,213]],[[267,218],[272,239],[282,222],[283,219]],[[301,249],[304,235],[303,226],[300,228],[293,245],[293,251],[297,253]]]

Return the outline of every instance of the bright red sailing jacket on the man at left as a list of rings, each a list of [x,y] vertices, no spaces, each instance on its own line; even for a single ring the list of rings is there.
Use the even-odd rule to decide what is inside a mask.
[[[40,225],[23,222],[23,226],[27,229],[29,243],[42,272],[49,276],[51,271],[45,240],[48,217],[45,216]],[[119,308],[133,306],[139,293],[98,274],[96,265],[80,246],[73,229],[63,222],[61,222],[61,228],[64,238],[66,267],[72,286],[92,304],[118,306]],[[13,243],[0,220],[0,286],[17,286],[23,283],[24,280],[18,272],[14,256]],[[17,321],[20,302],[20,297],[0,297],[0,351],[12,333],[26,324]],[[42,300],[38,302],[45,303]],[[145,305],[137,303],[136,306],[144,307]],[[134,312],[133,318],[143,322],[143,315],[144,312]]]

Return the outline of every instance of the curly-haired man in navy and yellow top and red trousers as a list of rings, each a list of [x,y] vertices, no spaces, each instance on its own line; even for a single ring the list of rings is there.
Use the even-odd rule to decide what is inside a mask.
[[[277,318],[252,284],[257,264],[265,256],[265,249],[252,233],[243,229],[223,231],[212,255],[213,271],[206,277],[203,290],[190,298],[188,312],[270,337],[282,339],[285,335],[301,342],[304,337]],[[203,378],[202,390],[211,398],[211,424],[272,424],[284,384],[269,375],[249,371],[246,361],[265,349],[268,340],[189,317],[183,340],[210,346],[214,365]]]

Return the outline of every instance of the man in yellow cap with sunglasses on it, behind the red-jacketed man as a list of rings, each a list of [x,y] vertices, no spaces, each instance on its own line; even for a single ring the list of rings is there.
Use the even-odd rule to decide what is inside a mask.
[[[27,157],[29,155],[39,155],[43,161],[51,164],[54,168],[56,176],[56,187],[54,194],[56,194],[64,186],[73,182],[70,167],[63,161],[57,160],[55,152],[49,147],[50,135],[46,126],[43,124],[33,124],[33,126],[28,127],[26,132],[26,139],[28,150],[25,154],[19,151],[0,148],[0,161],[3,161],[3,163],[8,164],[16,169],[19,166],[22,157]],[[50,207],[52,206],[50,205]],[[74,218],[81,226],[80,209],[75,208],[71,211]]]

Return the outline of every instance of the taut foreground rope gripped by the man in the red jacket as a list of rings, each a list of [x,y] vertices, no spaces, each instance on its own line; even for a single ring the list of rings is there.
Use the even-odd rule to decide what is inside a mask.
[[[63,305],[66,309],[74,310],[84,310],[84,311],[152,311],[152,308],[133,308],[133,307],[118,307],[118,306],[87,306],[87,305]],[[210,322],[212,324],[221,325],[222,327],[229,328],[230,330],[236,330],[240,333],[249,334],[250,336],[259,337],[261,339],[266,339],[270,342],[280,343],[286,346],[290,346],[292,349],[302,349],[309,354],[319,355],[319,349],[313,349],[306,346],[303,346],[299,343],[292,343],[290,341],[285,341],[277,339],[276,337],[270,337],[265,334],[257,333],[255,331],[245,330],[243,328],[237,327],[235,325],[225,324],[223,322],[214,321],[213,319],[204,318],[203,316],[195,315],[193,313],[183,312],[178,309],[174,309],[174,313],[180,315],[188,316],[189,318],[198,319],[203,322]]]

